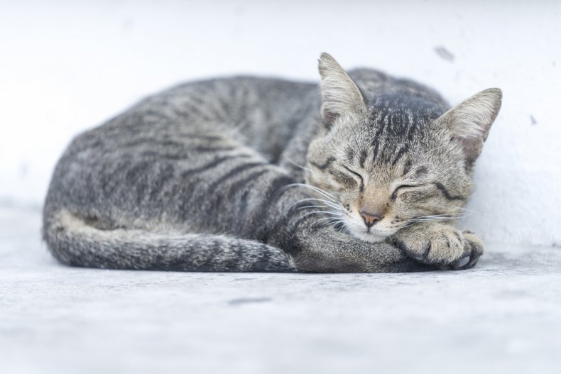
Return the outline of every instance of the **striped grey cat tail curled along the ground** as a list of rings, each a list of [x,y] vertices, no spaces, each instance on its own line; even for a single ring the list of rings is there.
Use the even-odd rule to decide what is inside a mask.
[[[61,263],[86,268],[293,272],[292,259],[259,241],[199,233],[102,230],[62,210],[45,214],[43,239]]]

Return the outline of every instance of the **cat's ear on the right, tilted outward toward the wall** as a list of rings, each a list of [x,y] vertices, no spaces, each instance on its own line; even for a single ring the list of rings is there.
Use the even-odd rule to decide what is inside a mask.
[[[501,89],[485,89],[440,116],[440,121],[452,133],[452,141],[462,147],[468,163],[474,163],[481,153],[501,109],[502,97]]]

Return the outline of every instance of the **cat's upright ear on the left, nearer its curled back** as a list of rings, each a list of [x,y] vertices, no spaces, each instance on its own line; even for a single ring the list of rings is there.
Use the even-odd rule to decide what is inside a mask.
[[[322,77],[322,119],[327,128],[342,114],[366,111],[359,87],[331,55],[322,53],[318,69]]]

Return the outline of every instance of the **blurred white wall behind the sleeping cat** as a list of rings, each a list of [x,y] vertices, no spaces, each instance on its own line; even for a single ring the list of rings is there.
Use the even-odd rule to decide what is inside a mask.
[[[317,79],[320,52],[432,85],[501,87],[464,224],[561,243],[559,1],[0,1],[0,201],[40,206],[75,133],[200,77]],[[443,46],[447,60],[436,53]]]

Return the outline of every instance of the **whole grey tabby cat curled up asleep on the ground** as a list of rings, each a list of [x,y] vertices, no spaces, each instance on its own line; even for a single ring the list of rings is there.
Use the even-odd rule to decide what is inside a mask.
[[[191,82],[82,133],[50,183],[50,251],[112,269],[471,268],[481,241],[454,219],[501,90],[448,109],[326,53],[319,69],[320,95],[279,79]]]

